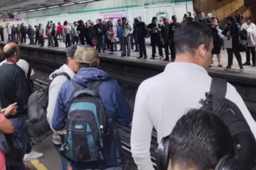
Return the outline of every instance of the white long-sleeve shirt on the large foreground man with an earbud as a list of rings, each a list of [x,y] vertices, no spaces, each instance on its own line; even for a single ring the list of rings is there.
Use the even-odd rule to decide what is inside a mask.
[[[210,90],[212,78],[193,63],[169,63],[163,73],[144,80],[135,98],[131,129],[131,153],[138,169],[154,170],[150,159],[151,131],[158,132],[158,143],[169,135],[177,120],[190,109],[199,109],[200,99]],[[256,122],[236,88],[227,84],[226,99],[243,113],[256,137]]]

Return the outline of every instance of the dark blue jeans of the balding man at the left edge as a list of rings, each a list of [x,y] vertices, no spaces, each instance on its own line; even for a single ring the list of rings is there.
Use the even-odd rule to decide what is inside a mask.
[[[26,148],[28,143],[28,138],[26,135],[26,120],[28,119],[28,116],[22,116],[18,118],[9,118],[9,120],[13,123],[14,130],[16,132],[17,138],[19,139],[20,143],[22,144],[22,151],[24,158],[24,155],[26,154]],[[20,162],[16,165],[15,169],[17,170],[25,170],[26,167],[23,162]]]

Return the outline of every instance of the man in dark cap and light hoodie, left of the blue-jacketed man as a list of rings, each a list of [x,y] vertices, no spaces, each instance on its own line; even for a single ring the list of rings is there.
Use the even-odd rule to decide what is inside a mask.
[[[59,94],[60,88],[63,85],[63,83],[68,81],[68,79],[72,79],[76,73],[76,70],[77,70],[75,67],[76,63],[73,58],[74,58],[77,47],[78,45],[70,46],[66,52],[67,54],[66,64],[64,64],[59,69],[55,70],[51,75],[49,75],[49,79],[52,80],[49,86],[49,100],[48,100],[48,107],[47,107],[47,121],[50,126],[52,125],[53,111],[55,108],[56,99]],[[60,136],[52,128],[52,126],[51,126],[51,129],[52,129],[52,142],[57,152],[59,153],[59,150],[61,147]],[[68,169],[68,161],[65,158],[63,158],[63,156],[60,155],[60,157],[61,157],[61,170]]]

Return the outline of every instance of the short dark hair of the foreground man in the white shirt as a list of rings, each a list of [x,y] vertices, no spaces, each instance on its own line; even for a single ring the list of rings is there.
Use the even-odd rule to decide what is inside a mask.
[[[201,44],[210,49],[212,30],[208,25],[199,22],[182,23],[174,32],[174,44],[176,53],[190,53],[193,56]]]

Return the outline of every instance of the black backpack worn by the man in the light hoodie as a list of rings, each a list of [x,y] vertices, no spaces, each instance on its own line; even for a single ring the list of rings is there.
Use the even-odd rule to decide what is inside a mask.
[[[71,79],[71,77],[64,72],[53,75],[53,79],[60,75],[64,75],[68,80]],[[48,137],[48,135],[52,134],[46,118],[48,93],[49,86],[46,89],[35,91],[28,99],[28,120],[26,121],[26,130],[31,138],[32,145],[38,145],[43,139]]]

